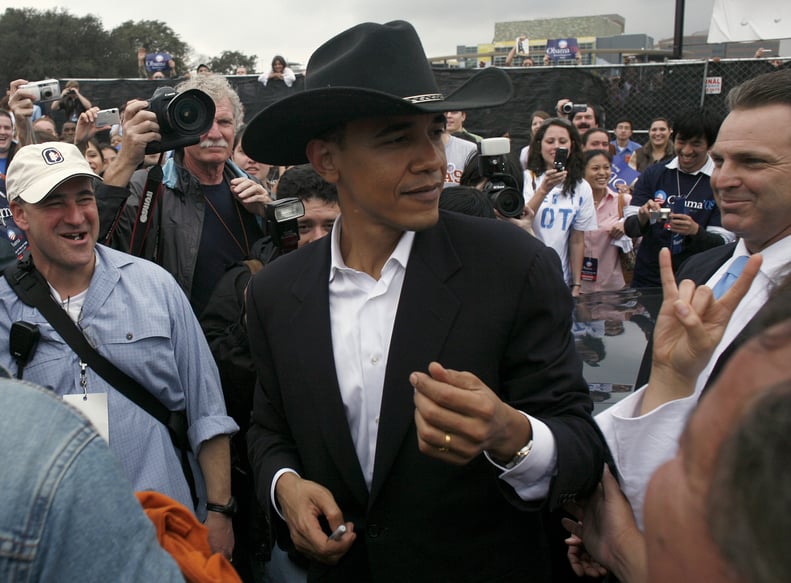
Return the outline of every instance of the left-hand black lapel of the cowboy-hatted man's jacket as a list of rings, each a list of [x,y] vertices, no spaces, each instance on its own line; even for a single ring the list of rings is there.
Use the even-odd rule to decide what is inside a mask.
[[[291,287],[298,302],[293,329],[310,330],[312,336],[309,346],[298,349],[303,386],[321,387],[320,390],[310,391],[316,395],[316,403],[306,403],[305,406],[321,407],[319,418],[327,450],[349,489],[360,505],[365,507],[368,502],[368,488],[349,431],[332,350],[328,287],[329,243],[328,236],[311,244],[311,247],[316,245],[320,249],[315,249],[317,252],[312,254],[312,260],[303,264],[305,268]],[[284,389],[287,390],[287,387]],[[318,452],[313,453],[315,455]]]

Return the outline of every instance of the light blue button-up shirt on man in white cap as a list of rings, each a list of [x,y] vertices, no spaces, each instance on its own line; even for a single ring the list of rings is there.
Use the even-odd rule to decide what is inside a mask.
[[[189,440],[197,453],[202,442],[231,434],[238,426],[225,412],[220,379],[206,339],[187,298],[158,265],[96,246],[96,269],[79,325],[110,362],[153,393],[171,410],[185,409]],[[15,371],[8,337],[12,322],[37,324],[38,348],[24,378],[59,395],[81,394],[79,358],[35,308],[26,306],[0,280],[0,365]],[[95,371],[87,371],[89,393],[107,393],[110,449],[135,490],[155,490],[193,507],[178,454],[167,429],[127,400]],[[197,492],[205,484],[191,456]],[[203,509],[203,504],[198,508]],[[199,516],[202,518],[202,516]]]

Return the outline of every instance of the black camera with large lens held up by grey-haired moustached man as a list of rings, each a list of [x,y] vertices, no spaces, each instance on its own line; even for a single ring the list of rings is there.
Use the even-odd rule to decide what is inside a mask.
[[[160,87],[148,100],[148,109],[157,116],[161,142],[149,142],[146,154],[158,154],[197,144],[214,123],[214,101],[200,89],[176,93]]]

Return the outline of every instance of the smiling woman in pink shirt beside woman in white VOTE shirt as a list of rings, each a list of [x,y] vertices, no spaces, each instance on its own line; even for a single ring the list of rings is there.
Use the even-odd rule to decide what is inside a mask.
[[[610,188],[611,162],[609,151],[585,152],[585,180],[593,192],[599,228],[585,232],[582,293],[613,291],[626,287],[621,269],[620,249],[614,242],[624,237],[623,209],[629,205],[632,197]]]

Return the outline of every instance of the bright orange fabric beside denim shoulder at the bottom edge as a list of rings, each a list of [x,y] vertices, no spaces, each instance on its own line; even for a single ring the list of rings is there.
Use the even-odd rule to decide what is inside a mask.
[[[159,544],[176,560],[189,583],[241,583],[230,561],[212,554],[209,531],[183,504],[159,492],[135,492],[157,529]]]

